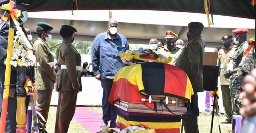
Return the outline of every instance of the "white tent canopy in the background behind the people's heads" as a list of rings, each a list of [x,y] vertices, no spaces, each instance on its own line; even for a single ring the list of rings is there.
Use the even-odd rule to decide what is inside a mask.
[[[221,45],[221,37],[235,28],[248,28],[248,39],[254,38],[255,21],[246,18],[214,15],[214,26],[208,28],[206,14],[201,13],[148,10],[111,12],[112,19],[119,22],[118,32],[125,35],[129,43],[148,44],[150,38],[164,40],[166,30],[172,30],[179,35],[179,39],[187,40],[187,24],[193,21],[204,24],[202,38],[208,47]],[[53,38],[60,39],[59,27],[71,24],[78,29],[76,39],[87,41],[92,41],[98,33],[107,30],[109,10],[79,10],[73,11],[73,14],[71,11],[28,12],[25,27],[35,30],[39,21],[50,23],[54,26]]]

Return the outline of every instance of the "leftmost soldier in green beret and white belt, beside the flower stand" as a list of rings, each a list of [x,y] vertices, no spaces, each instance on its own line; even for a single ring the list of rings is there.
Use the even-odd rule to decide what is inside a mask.
[[[46,119],[50,107],[50,100],[52,97],[52,90],[54,89],[54,82],[56,72],[54,71],[54,56],[49,49],[47,40],[51,39],[51,31],[53,27],[45,22],[37,23],[38,39],[34,42],[33,47],[36,50],[37,69],[36,69],[36,87],[37,90],[37,109]],[[46,122],[39,119],[39,132],[47,133]]]

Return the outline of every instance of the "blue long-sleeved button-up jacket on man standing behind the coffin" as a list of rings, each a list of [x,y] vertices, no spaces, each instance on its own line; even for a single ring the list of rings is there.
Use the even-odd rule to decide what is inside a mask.
[[[120,54],[128,49],[128,41],[124,35],[117,33],[112,40],[108,38],[107,32],[98,34],[91,48],[94,75],[100,74],[103,79],[113,79],[125,66],[120,59]]]

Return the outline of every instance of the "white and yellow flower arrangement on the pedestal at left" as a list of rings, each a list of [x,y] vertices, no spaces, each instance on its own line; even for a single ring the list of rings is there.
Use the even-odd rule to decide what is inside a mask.
[[[20,31],[16,32],[10,64],[14,67],[29,67],[36,63],[36,56],[28,49]],[[27,38],[26,38],[27,39]]]

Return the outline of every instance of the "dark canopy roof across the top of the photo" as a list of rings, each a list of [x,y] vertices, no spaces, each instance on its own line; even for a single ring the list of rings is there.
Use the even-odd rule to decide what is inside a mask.
[[[18,0],[19,1],[19,0]],[[204,0],[27,0],[29,11],[72,10],[159,10],[205,13]],[[73,2],[76,1],[76,2]],[[210,12],[254,19],[251,0],[209,0]]]

